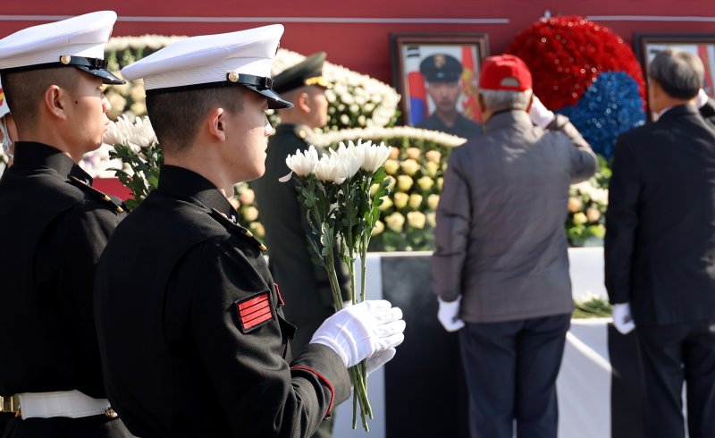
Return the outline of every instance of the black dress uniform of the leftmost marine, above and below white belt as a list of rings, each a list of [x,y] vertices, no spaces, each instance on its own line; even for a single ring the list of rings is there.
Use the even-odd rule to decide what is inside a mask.
[[[124,216],[69,156],[17,142],[0,181],[0,395],[79,390],[105,398],[93,317],[94,268]],[[13,422],[5,436],[131,436],[105,415]]]

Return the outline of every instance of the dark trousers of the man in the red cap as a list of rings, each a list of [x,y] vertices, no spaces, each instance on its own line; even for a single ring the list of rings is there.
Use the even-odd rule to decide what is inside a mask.
[[[459,343],[471,438],[556,438],[556,377],[570,315],[467,324]]]

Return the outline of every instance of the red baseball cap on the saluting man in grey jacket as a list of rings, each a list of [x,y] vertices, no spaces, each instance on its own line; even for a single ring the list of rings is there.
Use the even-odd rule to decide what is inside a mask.
[[[524,91],[531,88],[531,72],[517,56],[489,56],[482,65],[479,88]]]

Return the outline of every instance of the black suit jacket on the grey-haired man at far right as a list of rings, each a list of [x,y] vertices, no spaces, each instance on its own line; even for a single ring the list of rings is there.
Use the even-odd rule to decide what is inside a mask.
[[[715,128],[694,106],[618,137],[606,289],[636,324],[715,318]]]

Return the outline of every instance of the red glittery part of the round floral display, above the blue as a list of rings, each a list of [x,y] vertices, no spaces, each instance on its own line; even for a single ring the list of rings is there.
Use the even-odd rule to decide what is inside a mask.
[[[529,66],[534,93],[557,110],[576,101],[601,72],[626,72],[645,102],[645,81],[633,50],[622,38],[582,17],[538,21],[515,37],[508,54]]]

